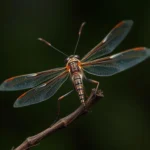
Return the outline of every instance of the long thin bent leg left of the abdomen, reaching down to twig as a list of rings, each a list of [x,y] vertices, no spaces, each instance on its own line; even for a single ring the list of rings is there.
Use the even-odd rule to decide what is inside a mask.
[[[69,91],[68,93],[62,95],[61,97],[58,98],[58,101],[57,101],[57,116],[56,116],[56,119],[54,120],[53,124],[58,120],[59,118],[59,115],[60,115],[60,101],[65,98],[66,96],[68,96],[69,94],[71,94],[74,90],[71,90]]]

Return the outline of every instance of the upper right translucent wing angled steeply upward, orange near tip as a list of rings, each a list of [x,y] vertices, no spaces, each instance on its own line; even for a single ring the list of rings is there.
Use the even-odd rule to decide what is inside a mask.
[[[82,62],[99,58],[103,55],[111,53],[126,37],[132,27],[132,20],[124,20],[117,24],[108,35],[83,58]]]

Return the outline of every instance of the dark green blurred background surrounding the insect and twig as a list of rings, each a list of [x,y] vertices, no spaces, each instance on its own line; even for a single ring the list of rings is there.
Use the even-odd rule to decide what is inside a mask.
[[[147,0],[6,0],[1,7],[0,82],[64,66],[65,57],[37,38],[45,38],[70,55],[83,21],[87,24],[77,49],[81,57],[125,19],[132,19],[134,26],[113,53],[137,46],[150,47],[150,1]],[[150,149],[150,59],[112,77],[88,77],[100,81],[105,95],[102,101],[88,115],[32,149]],[[89,91],[95,86],[85,85]],[[68,80],[50,100],[18,109],[13,108],[13,103],[24,91],[0,92],[0,149],[16,147],[28,136],[49,127],[56,117],[57,98],[71,88]],[[61,101],[61,117],[79,105],[74,92]]]

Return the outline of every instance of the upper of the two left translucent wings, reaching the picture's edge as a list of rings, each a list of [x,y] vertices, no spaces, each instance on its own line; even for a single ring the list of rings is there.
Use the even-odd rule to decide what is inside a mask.
[[[51,69],[38,73],[25,74],[5,80],[0,85],[0,91],[13,91],[33,88],[65,71],[65,67]]]

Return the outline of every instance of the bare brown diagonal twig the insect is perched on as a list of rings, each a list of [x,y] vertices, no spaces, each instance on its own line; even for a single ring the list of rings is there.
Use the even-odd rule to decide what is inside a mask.
[[[49,128],[45,129],[44,131],[34,136],[28,137],[21,145],[19,145],[17,148],[14,148],[14,150],[29,150],[29,148],[39,144],[39,142],[43,138],[56,132],[59,129],[67,127],[75,119],[82,116],[83,114],[86,114],[88,110],[92,107],[92,105],[95,104],[102,97],[103,97],[103,93],[100,90],[97,91],[97,93],[95,94],[95,89],[93,89],[89,98],[85,102],[86,109],[85,109],[85,106],[80,105],[74,112],[72,112],[71,114],[69,114],[68,116],[64,118],[61,118]]]

